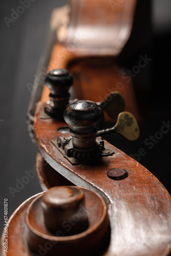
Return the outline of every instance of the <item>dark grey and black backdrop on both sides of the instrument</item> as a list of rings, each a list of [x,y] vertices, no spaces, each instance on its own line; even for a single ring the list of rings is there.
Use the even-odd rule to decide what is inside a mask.
[[[1,145],[1,228],[3,202],[8,198],[9,216],[27,198],[41,191],[37,177],[12,197],[9,187],[16,188],[25,171],[33,170],[37,148],[31,142],[26,125],[30,91],[26,84],[33,83],[39,58],[47,35],[53,8],[67,1],[36,0],[7,27],[4,17],[11,16],[19,1],[1,0],[1,75],[0,75],[0,145]],[[144,148],[146,155],[139,159],[171,193],[170,138],[171,131],[154,143],[151,150],[144,144],[149,136],[160,131],[162,122],[170,120],[170,1],[138,1],[135,24],[130,40],[121,56],[120,65],[131,69],[139,56],[147,54],[152,61],[134,78],[138,104],[145,122],[140,124],[141,136],[136,142],[125,142],[114,137],[114,144],[127,154],[136,154]],[[161,3],[162,2],[162,3]],[[150,6],[151,5],[151,6]],[[148,96],[147,96],[148,95]],[[1,229],[2,230],[2,229]]]

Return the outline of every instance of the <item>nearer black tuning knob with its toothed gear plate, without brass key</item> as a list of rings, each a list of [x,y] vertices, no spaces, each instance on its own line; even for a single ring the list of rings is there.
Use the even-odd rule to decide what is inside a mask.
[[[113,155],[114,152],[104,146],[97,138],[97,124],[101,119],[101,110],[95,102],[76,100],[67,105],[64,112],[66,123],[71,125],[70,137],[57,137],[54,145],[72,164]]]

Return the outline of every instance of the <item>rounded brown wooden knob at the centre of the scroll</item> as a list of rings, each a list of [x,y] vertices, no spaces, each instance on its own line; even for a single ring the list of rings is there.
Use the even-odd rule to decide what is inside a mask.
[[[55,186],[49,188],[42,196],[39,207],[43,210],[45,226],[52,234],[56,235],[60,230],[62,236],[68,237],[88,229],[89,220],[88,212],[85,210],[84,194],[83,189],[77,186]],[[30,220],[34,217],[31,211]],[[38,222],[36,218],[35,220]],[[72,220],[74,225],[66,227],[67,220]],[[63,226],[62,223],[65,225]]]

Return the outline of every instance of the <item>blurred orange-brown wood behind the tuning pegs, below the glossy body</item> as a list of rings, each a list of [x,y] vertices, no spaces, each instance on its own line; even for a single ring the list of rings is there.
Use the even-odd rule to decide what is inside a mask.
[[[123,76],[124,69],[119,68],[117,59],[111,57],[84,57],[78,58],[65,47],[56,43],[53,46],[48,71],[52,69],[68,69],[73,77],[74,84],[71,99],[103,101],[110,92],[121,93],[125,100],[125,111],[131,112],[138,121],[143,117],[137,106],[132,78]],[[47,102],[50,91],[44,86],[41,101]],[[113,121],[105,113],[106,121]]]

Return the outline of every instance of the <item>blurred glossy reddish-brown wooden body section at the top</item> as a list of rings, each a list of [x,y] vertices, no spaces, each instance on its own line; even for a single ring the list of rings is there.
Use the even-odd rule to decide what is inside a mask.
[[[130,36],[136,0],[69,0],[63,41],[78,55],[118,55]]]

